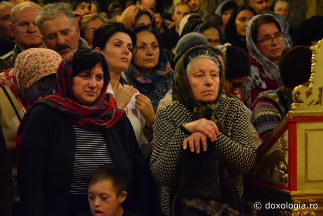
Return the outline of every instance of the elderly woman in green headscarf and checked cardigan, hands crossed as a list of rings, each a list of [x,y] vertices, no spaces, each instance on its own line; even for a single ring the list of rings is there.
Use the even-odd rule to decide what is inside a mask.
[[[223,95],[224,81],[221,63],[209,47],[189,49],[176,64],[172,93],[174,101],[157,111],[150,160],[151,172],[161,185],[160,205],[166,215],[170,214],[170,193],[174,188],[180,189],[178,196],[186,207],[197,209],[193,202],[209,206],[198,209],[202,214],[194,215],[224,215],[221,213],[228,205],[217,209],[213,201],[230,203],[230,208],[239,210],[239,201],[233,200],[234,191],[237,191],[238,197],[242,197],[242,174],[251,169],[256,152],[246,111],[240,101]],[[212,162],[224,164],[234,190],[224,190],[222,186],[226,181],[219,183],[217,169],[223,166],[209,167],[208,164],[213,163],[207,161],[204,161],[204,166],[185,166],[186,163],[182,161],[192,156],[190,152],[201,154],[199,159],[195,157],[197,162],[208,156],[219,155]],[[192,170],[196,172],[195,175]],[[205,184],[201,183],[204,177]],[[176,183],[179,180],[181,186],[178,188]],[[221,190],[214,191],[214,188]],[[191,199],[195,196],[196,202]],[[211,212],[208,209],[212,209]],[[225,215],[236,214],[231,212]]]

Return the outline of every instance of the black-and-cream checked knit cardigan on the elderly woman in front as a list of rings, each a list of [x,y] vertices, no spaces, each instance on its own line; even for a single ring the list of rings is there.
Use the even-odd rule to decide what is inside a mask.
[[[220,100],[217,113],[224,121],[228,136],[218,134],[214,145],[241,197],[242,174],[251,169],[256,157],[247,114],[240,101],[227,97]],[[192,120],[193,112],[179,101],[163,107],[156,114],[150,168],[161,185],[160,205],[167,215],[170,214],[170,190],[181,174],[183,140],[188,136],[180,126]]]

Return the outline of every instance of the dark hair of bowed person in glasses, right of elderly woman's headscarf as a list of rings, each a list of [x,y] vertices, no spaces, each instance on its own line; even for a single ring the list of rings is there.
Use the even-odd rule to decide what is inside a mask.
[[[250,60],[239,47],[229,46],[226,52],[226,78],[235,79],[250,75]]]

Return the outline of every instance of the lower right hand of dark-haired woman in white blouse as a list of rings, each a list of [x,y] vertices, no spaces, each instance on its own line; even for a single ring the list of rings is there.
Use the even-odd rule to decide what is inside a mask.
[[[155,112],[153,111],[153,107],[151,101],[148,97],[140,94],[136,96],[136,104],[135,107],[139,110],[141,115],[146,120],[146,125],[151,127],[155,122]]]

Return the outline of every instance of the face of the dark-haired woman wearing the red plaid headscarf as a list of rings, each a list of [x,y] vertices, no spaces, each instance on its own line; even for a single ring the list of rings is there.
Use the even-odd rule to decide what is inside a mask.
[[[91,105],[100,95],[103,87],[103,70],[101,64],[91,71],[81,71],[72,79],[72,96],[82,105]]]

